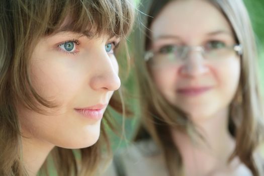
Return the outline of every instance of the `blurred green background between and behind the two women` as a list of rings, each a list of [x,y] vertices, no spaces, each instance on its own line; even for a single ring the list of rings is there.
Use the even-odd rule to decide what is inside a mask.
[[[140,0],[135,0],[135,2],[140,6]],[[264,92],[264,47],[263,47],[263,42],[264,42],[264,0],[244,0],[244,3],[249,11],[249,15],[251,18],[251,22],[254,28],[255,36],[256,36],[256,42],[258,46],[258,51],[259,51],[259,71],[260,71],[260,79],[261,79],[261,84],[262,84],[262,89]],[[138,23],[138,22],[136,22]],[[129,78],[125,82],[125,86],[128,87],[128,89],[133,93],[133,86],[134,86],[134,77],[133,77],[133,68],[130,73]],[[135,93],[134,93],[135,94]],[[117,119],[119,125],[122,125],[125,123],[125,130],[121,134],[122,139],[120,139],[119,135],[116,135],[112,132],[110,133],[111,137],[111,142],[112,142],[112,148],[114,150],[124,147],[126,145],[129,145],[131,138],[133,138],[133,135],[135,134],[135,130],[137,128],[138,120],[139,120],[139,113],[138,113],[138,102],[135,99],[136,95],[133,96],[133,98],[129,99],[129,108],[132,109],[132,111],[135,113],[133,117],[126,118],[125,122],[123,118],[114,113],[115,119]],[[264,97],[263,97],[264,98]],[[122,129],[120,128],[122,131]]]

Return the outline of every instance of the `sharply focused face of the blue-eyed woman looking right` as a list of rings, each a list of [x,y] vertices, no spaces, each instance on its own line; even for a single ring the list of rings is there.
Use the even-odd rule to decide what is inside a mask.
[[[37,93],[57,107],[39,114],[19,106],[23,136],[64,148],[93,145],[103,113],[120,87],[113,49],[119,39],[59,32],[34,49],[31,78]]]

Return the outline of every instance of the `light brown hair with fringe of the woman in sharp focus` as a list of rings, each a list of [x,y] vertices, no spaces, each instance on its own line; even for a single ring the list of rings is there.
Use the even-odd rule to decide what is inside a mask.
[[[50,108],[55,106],[36,93],[29,76],[32,51],[40,38],[61,29],[82,33],[92,28],[96,37],[109,35],[124,38],[131,30],[134,8],[132,0],[1,2],[0,175],[27,175],[22,162],[22,137],[16,110],[17,102],[41,113],[38,104]],[[122,108],[117,104],[120,102],[110,102],[110,106],[121,112]],[[108,112],[105,113],[104,121],[110,123]],[[101,143],[103,139],[107,139],[104,123],[101,131],[99,142],[91,147],[74,152],[71,149],[55,147],[51,153],[55,156],[52,159],[57,174],[94,173],[101,156]]]

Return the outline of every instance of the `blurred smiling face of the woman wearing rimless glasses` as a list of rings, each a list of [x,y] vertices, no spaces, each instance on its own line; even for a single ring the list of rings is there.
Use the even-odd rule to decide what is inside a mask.
[[[172,1],[150,29],[158,55],[150,60],[151,74],[165,99],[193,120],[226,112],[239,83],[240,58],[223,14],[207,1]]]

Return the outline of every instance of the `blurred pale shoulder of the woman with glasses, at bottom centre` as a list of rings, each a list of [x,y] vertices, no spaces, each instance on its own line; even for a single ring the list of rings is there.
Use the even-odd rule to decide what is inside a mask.
[[[118,150],[111,169],[116,175],[166,175],[163,157],[153,140],[143,140]]]

